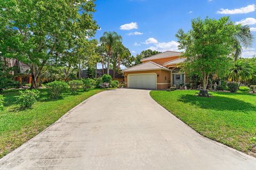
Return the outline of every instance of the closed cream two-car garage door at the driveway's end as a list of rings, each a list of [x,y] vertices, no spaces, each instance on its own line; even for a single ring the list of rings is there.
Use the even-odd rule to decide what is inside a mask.
[[[156,89],[156,74],[129,74],[128,88]]]

